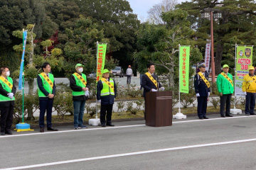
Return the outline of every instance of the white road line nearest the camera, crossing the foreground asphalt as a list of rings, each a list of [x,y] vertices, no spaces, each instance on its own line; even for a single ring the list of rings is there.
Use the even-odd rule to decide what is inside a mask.
[[[17,166],[17,167],[13,167],[13,168],[7,168],[6,170],[30,169],[30,168],[36,168],[36,167],[42,167],[42,166],[68,164],[68,163],[74,163],[74,162],[86,162],[86,161],[92,161],[92,160],[97,160],[97,159],[127,157],[127,156],[138,155],[138,154],[150,154],[150,153],[155,153],[155,152],[166,152],[166,151],[173,151],[173,150],[179,150],[179,149],[191,149],[191,148],[196,148],[196,147],[210,147],[210,146],[216,146],[216,145],[227,145],[227,144],[235,144],[235,143],[241,143],[241,142],[252,142],[252,141],[256,141],[256,138],[248,139],[248,140],[234,140],[234,141],[228,141],[228,142],[208,143],[208,144],[203,144],[203,145],[190,145],[190,146],[185,146],[185,147],[170,147],[170,148],[166,148],[166,149],[153,149],[153,150],[147,150],[147,151],[142,151],[142,152],[129,152],[129,153],[124,153],[124,154],[111,154],[111,155],[100,156],[100,157],[89,157],[89,158],[73,159],[73,160],[61,161],[61,162],[33,164],[33,165],[28,165],[28,166]],[[4,169],[0,169],[0,170],[4,170]]]

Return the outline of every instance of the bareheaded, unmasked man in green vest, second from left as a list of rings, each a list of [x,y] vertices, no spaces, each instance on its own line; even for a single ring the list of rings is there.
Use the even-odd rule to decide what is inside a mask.
[[[44,132],[44,115],[46,113],[47,130],[58,131],[52,127],[51,117],[53,109],[53,98],[55,96],[55,81],[53,74],[50,73],[48,62],[42,65],[43,72],[38,74],[38,96],[39,96],[39,126],[40,132]]]

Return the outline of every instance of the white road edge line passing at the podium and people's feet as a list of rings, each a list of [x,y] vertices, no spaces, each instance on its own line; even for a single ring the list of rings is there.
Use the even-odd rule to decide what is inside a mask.
[[[250,118],[254,115],[251,116],[237,116],[237,117],[230,117],[230,118],[211,118],[211,119],[204,119],[204,120],[180,120],[178,122],[173,122],[173,124],[176,123],[191,123],[191,122],[204,122],[204,121],[211,121],[211,120],[228,120],[228,119],[233,119],[233,118]],[[21,134],[21,135],[4,135],[0,136],[1,138],[5,137],[22,137],[22,136],[30,136],[30,135],[48,135],[48,134],[55,134],[55,133],[63,133],[63,132],[81,132],[85,130],[110,130],[110,129],[117,129],[117,128],[133,128],[133,127],[139,127],[139,126],[146,126],[146,125],[126,125],[126,126],[115,126],[115,127],[110,127],[110,128],[93,128],[93,129],[80,129],[80,130],[62,130],[62,131],[55,131],[55,132],[36,132],[36,133],[27,133],[27,134]]]

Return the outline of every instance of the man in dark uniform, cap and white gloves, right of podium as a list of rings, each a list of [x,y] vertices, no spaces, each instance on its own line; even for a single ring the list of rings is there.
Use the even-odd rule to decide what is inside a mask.
[[[208,81],[208,74],[206,73],[206,64],[202,63],[198,66],[200,72],[195,75],[194,86],[196,97],[198,100],[198,118],[208,119],[206,117],[207,99],[210,96],[210,83]]]

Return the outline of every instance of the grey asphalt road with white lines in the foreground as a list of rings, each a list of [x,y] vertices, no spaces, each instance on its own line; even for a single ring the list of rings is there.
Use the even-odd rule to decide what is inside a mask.
[[[256,116],[209,117],[163,128],[131,121],[14,132],[0,137],[0,169],[256,169]]]

